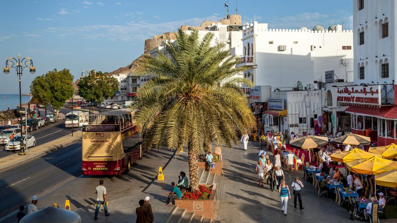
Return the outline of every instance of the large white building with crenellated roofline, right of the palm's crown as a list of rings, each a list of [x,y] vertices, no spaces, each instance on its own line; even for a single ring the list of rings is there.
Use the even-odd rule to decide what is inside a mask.
[[[316,31],[313,31],[316,30]],[[353,32],[332,25],[325,30],[268,29],[253,22],[243,27],[241,65],[250,66],[244,77],[255,86],[292,87],[297,81],[313,84],[324,80],[325,71],[334,70],[335,79],[352,81]],[[267,99],[263,98],[262,102]]]

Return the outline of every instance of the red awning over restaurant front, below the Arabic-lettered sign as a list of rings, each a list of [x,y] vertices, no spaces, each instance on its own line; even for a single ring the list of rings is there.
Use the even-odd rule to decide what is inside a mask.
[[[365,116],[397,119],[397,106],[381,106],[380,108],[349,106],[349,108],[347,108],[345,111],[348,113],[356,113]]]

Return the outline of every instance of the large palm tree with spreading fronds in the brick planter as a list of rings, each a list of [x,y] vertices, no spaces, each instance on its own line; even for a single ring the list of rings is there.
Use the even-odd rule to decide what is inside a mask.
[[[230,56],[224,44],[211,47],[213,34],[199,41],[178,30],[176,44],[167,41],[166,52],[145,56],[135,73],[152,75],[137,92],[136,122],[145,134],[146,145],[179,149],[187,145],[192,189],[199,187],[198,154],[204,142],[231,148],[238,131],[255,125],[255,117],[238,83],[252,86],[245,78],[233,77],[247,69],[235,67],[238,57]]]

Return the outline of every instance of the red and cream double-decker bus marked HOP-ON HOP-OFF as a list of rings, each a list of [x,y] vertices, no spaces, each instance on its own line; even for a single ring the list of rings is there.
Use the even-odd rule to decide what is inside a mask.
[[[142,157],[143,138],[131,110],[91,114],[89,120],[82,128],[84,175],[119,175]]]

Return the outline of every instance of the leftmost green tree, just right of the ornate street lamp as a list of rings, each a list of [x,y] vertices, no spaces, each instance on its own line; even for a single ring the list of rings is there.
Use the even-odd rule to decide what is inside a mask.
[[[30,93],[45,107],[45,114],[47,115],[47,106],[51,103],[52,94],[45,75],[37,76],[32,81],[30,84]]]

